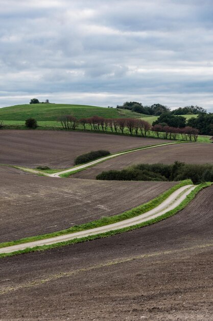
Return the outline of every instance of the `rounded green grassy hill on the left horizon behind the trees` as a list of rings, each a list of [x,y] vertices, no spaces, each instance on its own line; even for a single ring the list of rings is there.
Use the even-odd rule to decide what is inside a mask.
[[[26,104],[0,108],[1,121],[24,121],[29,117],[37,121],[57,121],[58,116],[65,114],[72,114],[78,119],[94,115],[106,118],[146,117],[130,110],[85,105]]]

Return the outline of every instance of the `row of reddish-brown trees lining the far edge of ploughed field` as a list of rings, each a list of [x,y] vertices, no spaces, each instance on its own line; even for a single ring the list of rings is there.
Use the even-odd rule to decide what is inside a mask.
[[[108,131],[111,132],[122,132],[128,131],[130,135],[141,135],[146,137],[150,131],[155,132],[156,136],[159,137],[160,133],[163,134],[165,139],[177,139],[182,140],[194,140],[197,141],[199,131],[192,127],[177,128],[172,126],[162,126],[156,124],[151,126],[150,123],[144,121],[144,119],[137,118],[104,118],[100,116],[92,116],[89,118],[81,118],[79,121],[72,115],[63,115],[58,117],[58,121],[61,123],[63,129],[75,130],[79,124],[81,124],[86,130],[89,126],[94,131]]]

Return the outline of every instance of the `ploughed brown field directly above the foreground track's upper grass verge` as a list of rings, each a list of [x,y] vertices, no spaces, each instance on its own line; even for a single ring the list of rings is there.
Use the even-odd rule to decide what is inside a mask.
[[[0,242],[120,214],[177,183],[39,177],[0,167]]]

